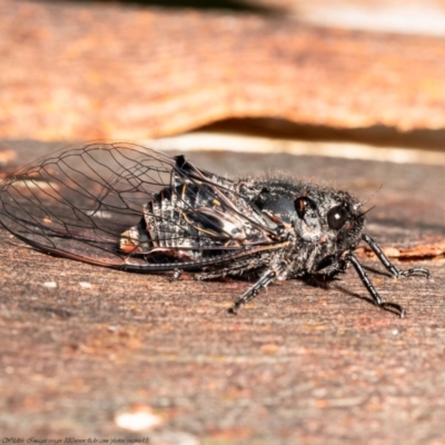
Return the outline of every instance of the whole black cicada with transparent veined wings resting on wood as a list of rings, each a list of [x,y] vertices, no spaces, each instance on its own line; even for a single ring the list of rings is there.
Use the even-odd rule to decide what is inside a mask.
[[[0,189],[0,221],[32,247],[80,261],[139,273],[182,270],[198,279],[250,276],[236,313],[275,279],[326,281],[353,265],[374,303],[383,301],[354,256],[366,241],[364,202],[346,191],[284,178],[231,180],[128,144],[93,144],[48,156]]]

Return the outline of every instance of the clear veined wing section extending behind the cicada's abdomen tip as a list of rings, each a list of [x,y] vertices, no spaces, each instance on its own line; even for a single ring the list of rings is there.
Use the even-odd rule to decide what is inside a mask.
[[[169,184],[175,160],[132,145],[90,145],[50,155],[1,186],[1,224],[33,247],[119,265],[120,234]]]

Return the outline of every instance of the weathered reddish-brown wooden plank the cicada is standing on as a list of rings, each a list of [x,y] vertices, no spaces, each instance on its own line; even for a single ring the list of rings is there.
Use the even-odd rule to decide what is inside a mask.
[[[38,146],[20,145],[21,159]],[[42,147],[42,146],[40,146]],[[10,147],[11,148],[11,147]],[[19,149],[18,146],[13,147]],[[444,169],[312,157],[194,154],[218,172],[287,169],[372,195],[368,233],[385,248],[443,243]],[[144,438],[154,444],[441,444],[445,437],[443,254],[396,280],[359,253],[378,310],[353,270],[329,290],[93,267],[33,251],[0,230],[0,431],[4,437]],[[55,283],[57,287],[48,287]],[[131,433],[122,413],[147,412]]]

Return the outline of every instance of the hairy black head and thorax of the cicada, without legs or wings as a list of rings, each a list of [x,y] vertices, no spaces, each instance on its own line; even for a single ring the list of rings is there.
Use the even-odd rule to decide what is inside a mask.
[[[281,178],[259,180],[256,189],[260,191],[254,204],[274,220],[293,227],[293,243],[286,254],[288,277],[313,273],[333,256],[358,246],[364,216],[350,194]],[[329,221],[337,208],[347,212],[338,229],[335,219]]]

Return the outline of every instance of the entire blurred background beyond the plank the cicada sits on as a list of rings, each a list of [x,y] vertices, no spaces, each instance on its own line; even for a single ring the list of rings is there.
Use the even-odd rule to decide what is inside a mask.
[[[0,139],[445,164],[444,34],[443,0],[0,0]]]

